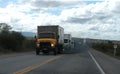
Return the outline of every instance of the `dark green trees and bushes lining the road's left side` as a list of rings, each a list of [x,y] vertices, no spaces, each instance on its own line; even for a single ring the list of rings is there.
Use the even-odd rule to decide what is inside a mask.
[[[20,32],[11,29],[8,24],[0,23],[0,53],[24,52],[35,49],[33,38],[26,38]]]

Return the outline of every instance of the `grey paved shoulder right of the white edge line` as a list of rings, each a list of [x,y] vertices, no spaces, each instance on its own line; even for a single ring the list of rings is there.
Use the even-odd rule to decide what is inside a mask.
[[[106,74],[120,74],[120,60],[110,57],[100,51],[90,50]]]

